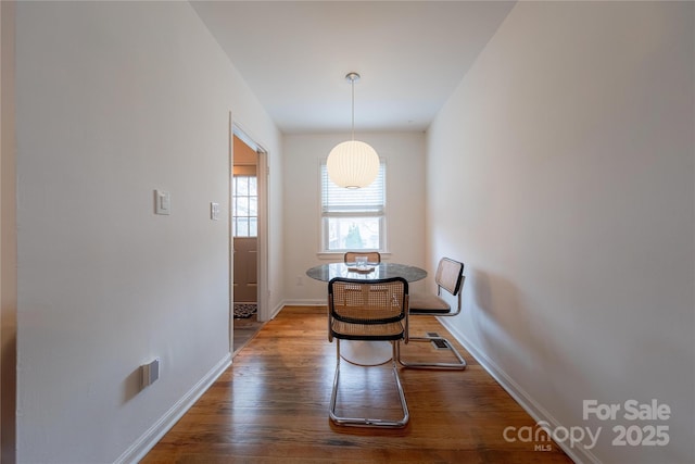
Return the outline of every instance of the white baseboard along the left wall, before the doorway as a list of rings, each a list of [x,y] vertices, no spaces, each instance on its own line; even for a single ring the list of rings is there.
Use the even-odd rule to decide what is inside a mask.
[[[174,424],[198,401],[215,380],[231,365],[231,353],[212,368],[198,384],[176,402],[152,427],[132,443],[114,464],[137,463],[169,431]]]

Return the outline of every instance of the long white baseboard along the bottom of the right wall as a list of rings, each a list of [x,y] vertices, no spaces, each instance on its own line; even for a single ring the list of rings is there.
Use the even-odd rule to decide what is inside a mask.
[[[454,327],[447,317],[438,317],[439,322],[475,359],[478,363],[504,388],[507,393],[515,399],[523,410],[529,413],[536,423],[546,422],[549,428],[554,429],[561,424],[553,417],[553,415],[538,401],[535,401],[523,388],[521,388],[511,377],[509,377],[494,361],[480,351],[462,331]],[[566,443],[557,443],[558,447],[576,463],[595,463],[601,464],[601,460],[596,457],[590,450],[585,448],[570,448]]]

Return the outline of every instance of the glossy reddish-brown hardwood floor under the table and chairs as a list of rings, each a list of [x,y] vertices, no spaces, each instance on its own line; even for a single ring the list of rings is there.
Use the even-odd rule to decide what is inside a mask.
[[[448,336],[433,317],[410,321],[414,335]],[[328,403],[336,347],[326,329],[325,309],[285,308],[142,463],[571,463],[555,443],[505,440],[506,427],[535,423],[462,347],[466,371],[400,369],[410,410],[405,428],[334,426]],[[445,355],[430,343],[405,349]],[[393,380],[389,363],[343,362],[341,373],[343,406],[388,414],[397,402],[382,387]]]

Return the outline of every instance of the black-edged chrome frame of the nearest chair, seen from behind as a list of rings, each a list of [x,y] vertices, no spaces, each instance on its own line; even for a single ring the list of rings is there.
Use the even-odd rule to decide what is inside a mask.
[[[383,293],[388,291],[388,288],[393,283],[402,284],[402,301],[395,301],[395,296],[390,296],[389,299],[396,304],[391,304],[392,308],[400,306],[397,314],[394,312],[391,315],[382,318],[369,318],[363,317],[359,311],[345,315],[336,310],[336,297],[333,287],[337,285],[344,285],[345,291],[355,291],[355,296],[362,296],[362,299],[371,300],[371,296],[377,292]],[[358,293],[357,293],[358,292]],[[408,405],[405,400],[405,393],[403,391],[403,385],[399,377],[399,369],[396,364],[396,350],[397,342],[405,339],[407,334],[407,317],[408,317],[408,284],[402,277],[394,277],[389,279],[376,279],[376,280],[362,280],[362,279],[349,279],[336,277],[328,284],[328,340],[330,342],[336,339],[336,375],[333,377],[333,386],[330,397],[329,417],[330,419],[341,426],[354,426],[354,427],[379,427],[379,428],[402,428],[405,427],[410,418],[408,412]],[[359,310],[363,314],[367,314],[369,311],[376,311],[377,306],[369,306],[369,304],[363,304]],[[366,311],[365,311],[366,310]],[[379,326],[387,326],[389,329],[384,333],[378,333]],[[395,387],[401,402],[401,409],[403,411],[403,417],[400,419],[383,419],[375,417],[352,417],[341,416],[336,412],[338,402],[338,389],[340,384],[340,365],[342,356],[340,354],[340,341],[344,340],[388,340],[392,346],[391,364],[393,371],[393,378],[395,380]],[[407,342],[407,340],[406,340]]]

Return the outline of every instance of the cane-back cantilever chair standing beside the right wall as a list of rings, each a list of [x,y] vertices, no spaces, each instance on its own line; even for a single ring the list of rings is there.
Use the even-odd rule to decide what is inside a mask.
[[[437,267],[434,281],[437,283],[437,294],[413,292],[409,296],[409,315],[412,316],[455,316],[460,313],[460,293],[464,285],[464,263],[442,258]],[[458,303],[455,310],[442,298],[442,289],[453,297]],[[414,368],[440,368],[440,369],[465,369],[466,361],[454,346],[444,337],[439,335],[426,335],[425,337],[410,337],[406,335],[408,341],[427,341],[433,343],[438,349],[450,350],[456,362],[408,362],[403,359],[400,343],[396,344],[396,359],[405,367]]]

